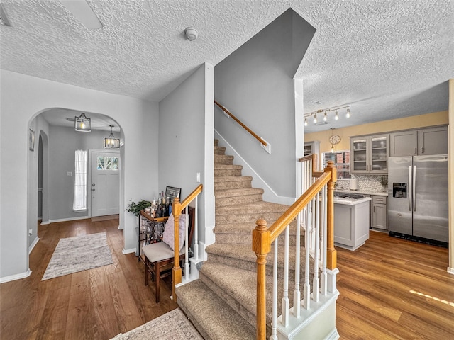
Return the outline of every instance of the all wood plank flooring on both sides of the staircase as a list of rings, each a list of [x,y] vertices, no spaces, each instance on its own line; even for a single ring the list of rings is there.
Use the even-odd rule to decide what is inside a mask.
[[[29,278],[0,285],[0,339],[110,339],[177,307],[170,281],[143,285],[143,263],[123,255],[118,220],[40,226]],[[41,281],[62,237],[106,231],[114,264]],[[372,232],[338,249],[336,326],[341,339],[454,339],[454,276],[448,249]]]

